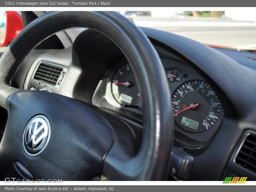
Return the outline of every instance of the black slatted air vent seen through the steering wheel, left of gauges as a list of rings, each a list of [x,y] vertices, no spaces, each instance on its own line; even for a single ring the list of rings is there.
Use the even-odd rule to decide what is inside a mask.
[[[62,70],[62,68],[41,62],[36,70],[34,79],[56,85]]]

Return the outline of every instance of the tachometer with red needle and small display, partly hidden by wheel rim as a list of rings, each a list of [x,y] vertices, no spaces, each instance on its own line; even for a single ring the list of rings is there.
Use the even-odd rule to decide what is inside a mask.
[[[112,94],[122,105],[135,105],[141,100],[135,76],[129,63],[118,68],[111,81]]]

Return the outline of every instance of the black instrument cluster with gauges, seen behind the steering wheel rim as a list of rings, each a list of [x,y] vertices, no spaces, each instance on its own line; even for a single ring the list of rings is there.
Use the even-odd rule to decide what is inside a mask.
[[[172,95],[175,130],[180,134],[176,140],[187,147],[201,147],[221,123],[220,100],[205,79],[189,65],[164,58],[161,61]],[[102,108],[123,108],[142,114],[142,99],[132,68],[122,58],[100,80],[92,102]]]

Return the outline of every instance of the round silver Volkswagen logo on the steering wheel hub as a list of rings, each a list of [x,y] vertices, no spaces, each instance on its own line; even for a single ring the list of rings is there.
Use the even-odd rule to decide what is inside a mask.
[[[28,155],[36,156],[47,147],[51,135],[51,125],[47,117],[33,117],[23,133],[23,147]]]

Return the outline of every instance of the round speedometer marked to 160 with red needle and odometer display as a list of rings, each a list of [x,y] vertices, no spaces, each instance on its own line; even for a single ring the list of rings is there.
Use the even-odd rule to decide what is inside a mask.
[[[211,129],[220,118],[221,105],[209,84],[200,80],[181,84],[172,96],[176,124],[188,132]]]

